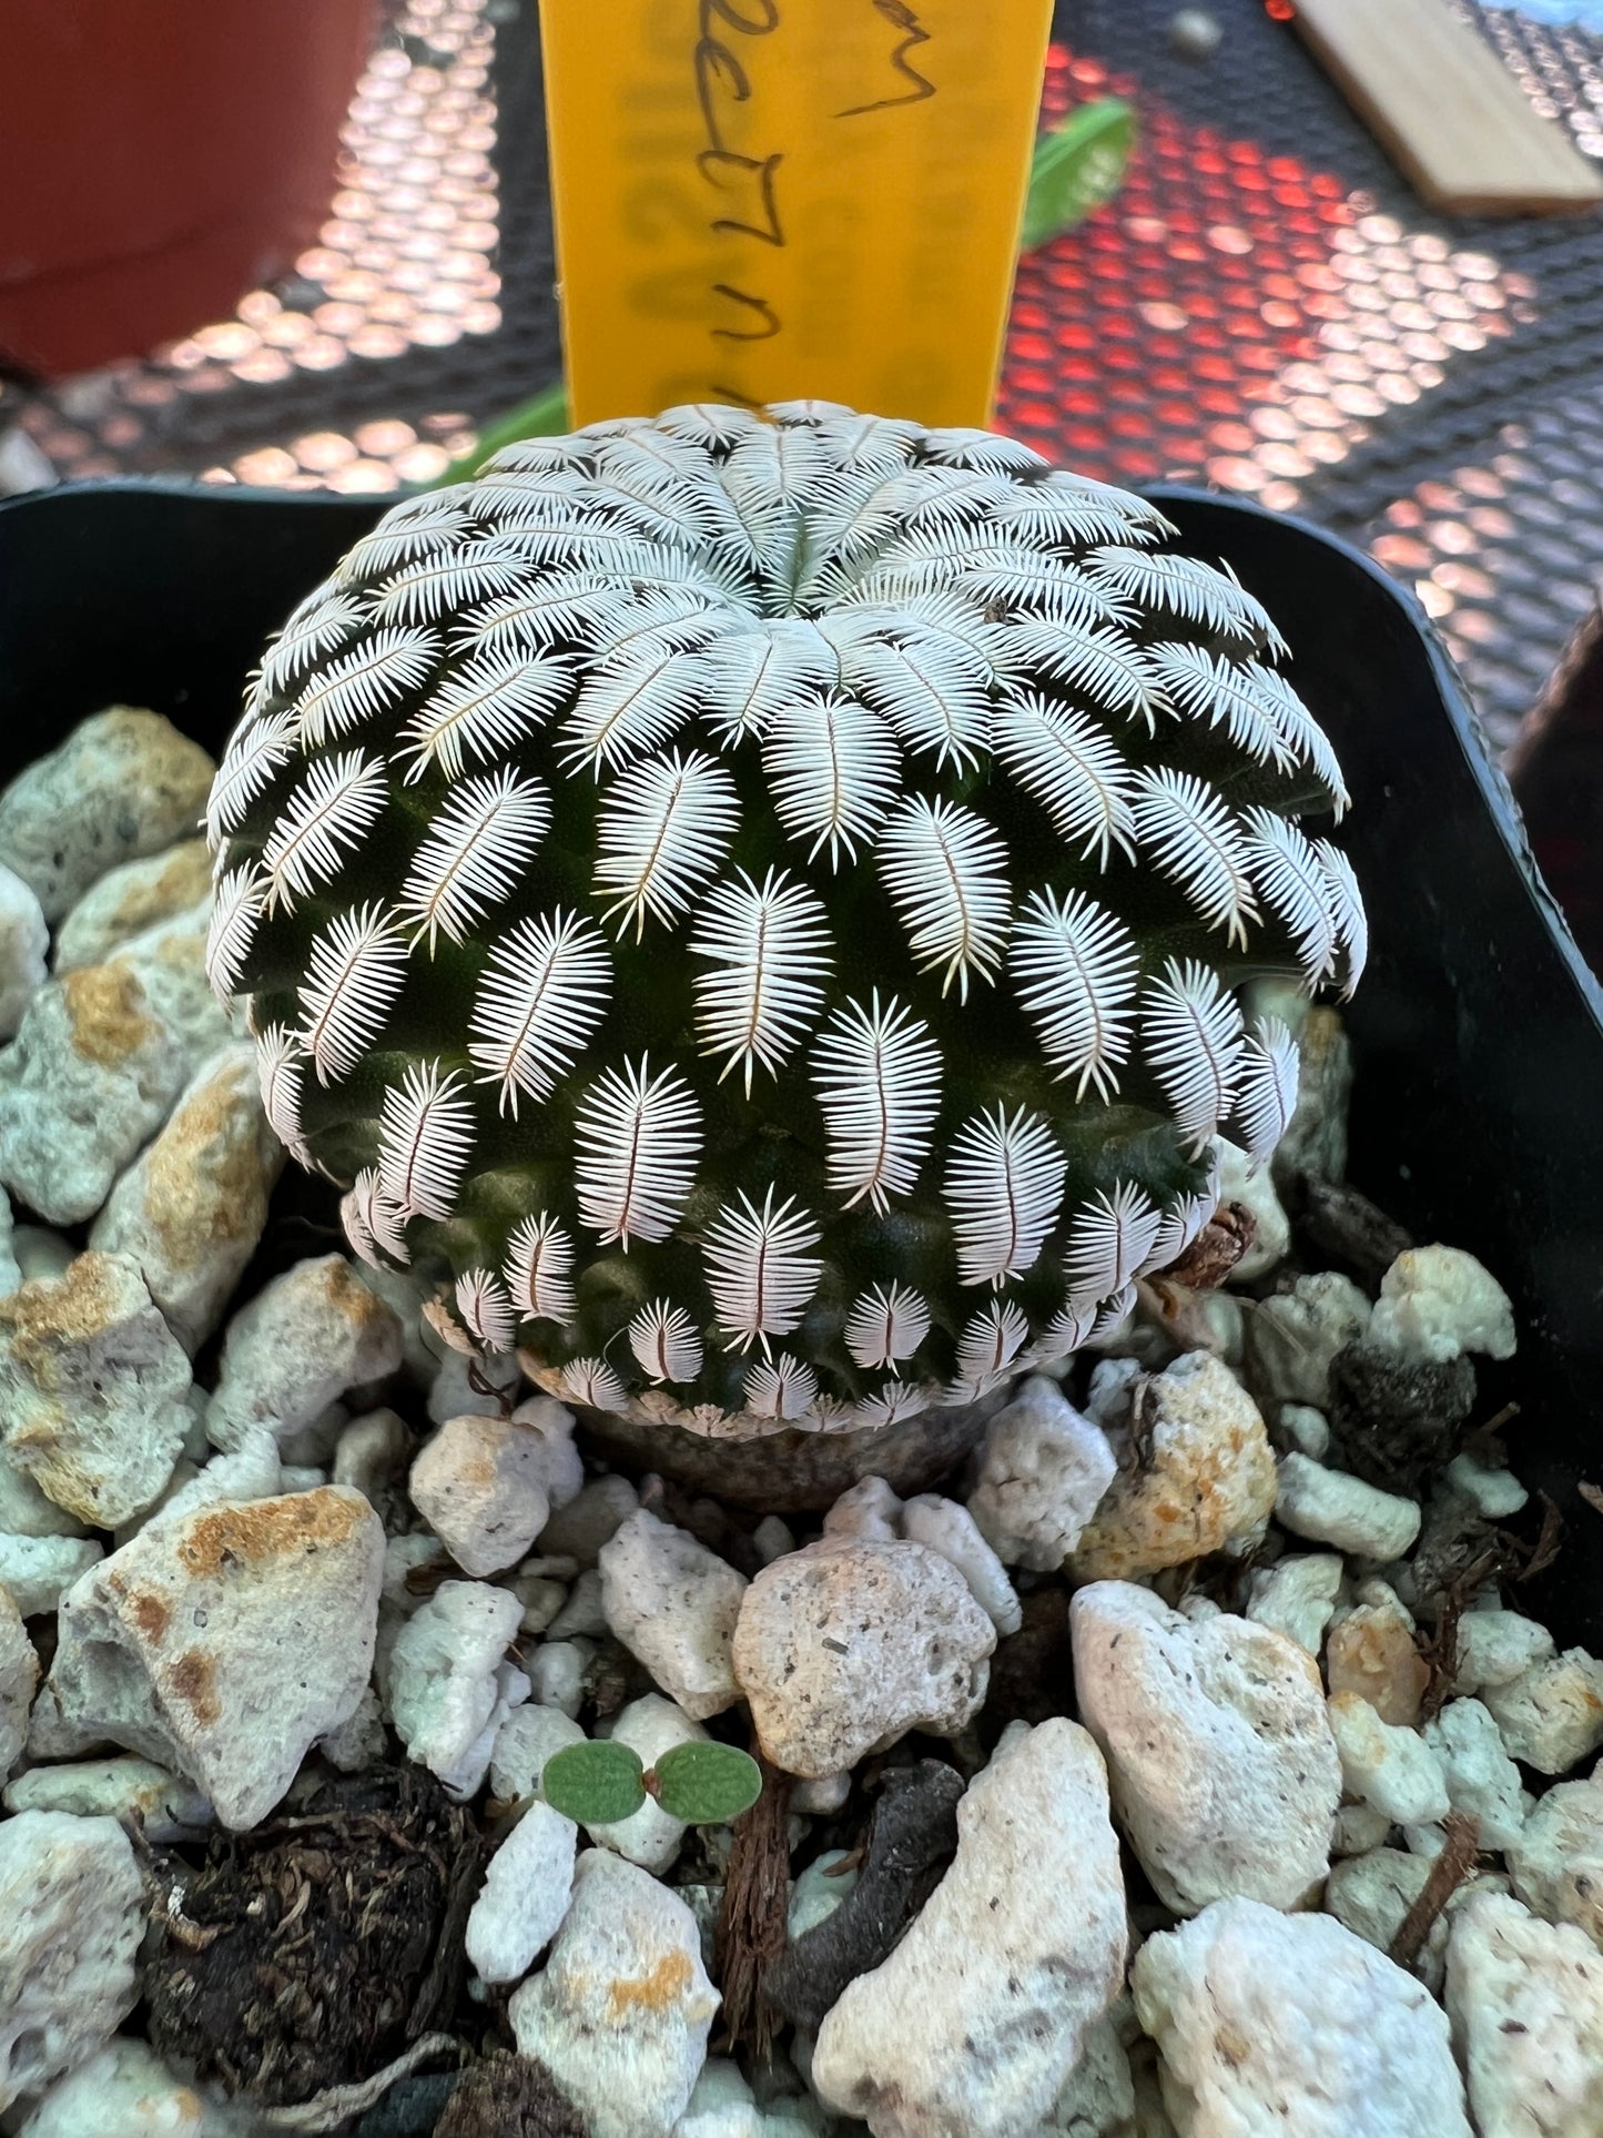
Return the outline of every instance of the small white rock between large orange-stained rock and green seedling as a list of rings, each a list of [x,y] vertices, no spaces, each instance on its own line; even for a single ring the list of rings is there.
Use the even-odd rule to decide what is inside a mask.
[[[395,1736],[406,1757],[438,1775],[457,1798],[472,1796],[485,1779],[494,1732],[511,1708],[500,1666],[519,1616],[507,1589],[440,1582],[389,1653]]]

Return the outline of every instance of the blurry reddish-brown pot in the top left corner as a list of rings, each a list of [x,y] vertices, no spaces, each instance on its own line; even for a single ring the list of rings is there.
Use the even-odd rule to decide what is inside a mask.
[[[376,0],[6,0],[0,355],[130,357],[286,274],[327,216]]]

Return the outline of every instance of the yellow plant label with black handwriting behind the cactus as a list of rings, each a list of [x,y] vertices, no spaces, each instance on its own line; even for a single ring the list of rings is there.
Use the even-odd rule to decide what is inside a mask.
[[[985,423],[1052,0],[541,0],[575,423]]]

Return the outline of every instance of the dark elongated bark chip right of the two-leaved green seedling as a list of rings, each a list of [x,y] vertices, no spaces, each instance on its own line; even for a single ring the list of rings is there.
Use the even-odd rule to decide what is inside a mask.
[[[797,2027],[816,2027],[849,1982],[878,1967],[936,1890],[958,1852],[962,1794],[943,1760],[887,1768],[857,1886],[769,1969],[769,1995]]]

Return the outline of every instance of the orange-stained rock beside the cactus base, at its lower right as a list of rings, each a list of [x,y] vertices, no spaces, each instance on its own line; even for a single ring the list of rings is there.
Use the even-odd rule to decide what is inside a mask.
[[[1111,1445],[1118,1475],[1069,1561],[1077,1582],[1141,1580],[1263,1541],[1274,1450],[1259,1407],[1210,1351],[1139,1381]]]

